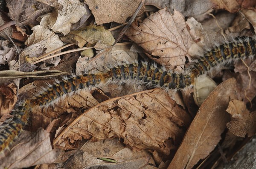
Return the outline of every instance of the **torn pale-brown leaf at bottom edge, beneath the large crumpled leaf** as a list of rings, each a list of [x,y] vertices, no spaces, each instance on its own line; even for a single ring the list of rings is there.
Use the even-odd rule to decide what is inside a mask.
[[[119,139],[109,138],[101,141],[86,141],[78,150],[61,152],[55,164],[51,164],[52,169],[57,168],[76,168],[81,169],[86,166],[95,166],[97,164],[104,165],[106,161],[97,158],[110,158],[118,163],[130,161],[148,156],[151,166],[156,166],[152,156],[146,150],[132,151],[120,143]]]

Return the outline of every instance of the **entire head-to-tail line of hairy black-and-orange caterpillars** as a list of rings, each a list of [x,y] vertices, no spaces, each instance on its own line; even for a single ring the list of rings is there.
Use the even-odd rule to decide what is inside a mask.
[[[256,53],[256,37],[241,37],[216,46],[204,56],[192,63],[185,72],[177,73],[158,68],[155,64],[136,62],[133,64],[117,65],[108,68],[105,72],[83,74],[64,78],[62,82],[56,80],[55,84],[17,104],[10,113],[12,118],[7,119],[0,126],[0,152],[9,148],[12,141],[19,135],[26,125],[31,107],[47,106],[58,101],[67,94],[78,90],[90,89],[99,84],[108,83],[139,83],[149,87],[161,87],[165,90],[183,90],[192,87],[194,79],[221,65],[236,62],[239,59],[253,59]]]

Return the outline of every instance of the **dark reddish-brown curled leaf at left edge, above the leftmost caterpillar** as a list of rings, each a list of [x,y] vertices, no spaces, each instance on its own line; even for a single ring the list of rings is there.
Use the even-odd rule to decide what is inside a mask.
[[[10,113],[17,101],[17,86],[14,83],[0,85],[0,117]]]

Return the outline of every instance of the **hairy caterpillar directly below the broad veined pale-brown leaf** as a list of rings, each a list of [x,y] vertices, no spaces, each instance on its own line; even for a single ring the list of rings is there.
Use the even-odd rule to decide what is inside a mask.
[[[166,71],[164,68],[157,68],[147,62],[118,65],[110,68],[107,72],[112,80],[119,82],[139,82],[150,87],[163,87],[165,89],[183,89],[189,87],[193,79],[189,74]]]

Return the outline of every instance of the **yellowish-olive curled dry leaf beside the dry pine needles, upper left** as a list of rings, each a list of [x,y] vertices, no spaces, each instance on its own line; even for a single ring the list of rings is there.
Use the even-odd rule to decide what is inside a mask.
[[[64,37],[61,37],[64,42],[78,43],[79,48],[82,48],[87,42],[95,45],[97,42],[108,46],[113,45],[115,39],[104,26],[90,25],[86,26],[83,31],[71,31]]]

